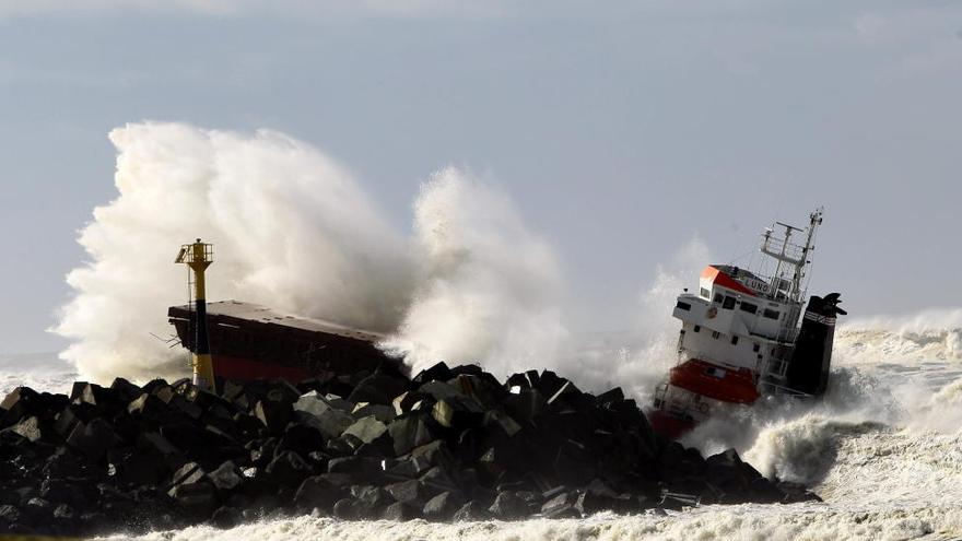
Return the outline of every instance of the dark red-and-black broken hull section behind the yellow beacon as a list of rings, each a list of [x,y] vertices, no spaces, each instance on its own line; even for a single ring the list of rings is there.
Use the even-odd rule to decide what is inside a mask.
[[[196,313],[172,306],[167,316],[184,346],[195,351]],[[400,361],[376,348],[382,337],[373,332],[237,302],[210,303],[207,317],[214,377],[221,380],[282,377],[296,384],[378,368],[403,372]]]

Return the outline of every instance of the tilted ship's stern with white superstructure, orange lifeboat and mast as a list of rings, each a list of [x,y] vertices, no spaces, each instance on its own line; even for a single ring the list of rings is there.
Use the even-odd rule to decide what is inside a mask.
[[[806,227],[775,222],[762,233],[756,264],[708,264],[697,291],[678,296],[678,363],[649,412],[657,432],[678,438],[724,408],[825,392],[836,317],[846,311],[838,293],[811,295],[802,310],[822,213]]]

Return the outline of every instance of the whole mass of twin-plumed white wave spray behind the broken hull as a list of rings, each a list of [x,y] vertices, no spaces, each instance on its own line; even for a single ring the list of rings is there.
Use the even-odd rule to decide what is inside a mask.
[[[275,131],[183,124],[110,132],[118,197],[79,242],[90,261],[68,275],[75,296],[56,332],[61,354],[95,380],[184,374],[166,308],[186,299],[173,255],[215,245],[208,297],[394,333],[418,366],[438,360],[550,362],[564,334],[561,272],[508,198],[458,169],[434,175],[414,234],[389,227],[331,157]]]

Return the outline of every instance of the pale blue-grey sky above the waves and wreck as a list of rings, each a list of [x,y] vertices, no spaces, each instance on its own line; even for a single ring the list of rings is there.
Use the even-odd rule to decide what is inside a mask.
[[[0,353],[66,345],[107,133],[142,120],[308,142],[402,232],[471,170],[552,245],[579,329],[634,325],[693,239],[737,261],[818,205],[812,293],[958,307],[959,96],[958,1],[0,0]]]

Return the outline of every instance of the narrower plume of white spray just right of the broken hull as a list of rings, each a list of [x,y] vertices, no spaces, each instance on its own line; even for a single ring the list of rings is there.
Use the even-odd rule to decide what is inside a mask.
[[[414,234],[419,286],[389,350],[415,369],[438,360],[501,376],[554,366],[567,334],[560,267],[504,193],[444,169],[422,186]]]

